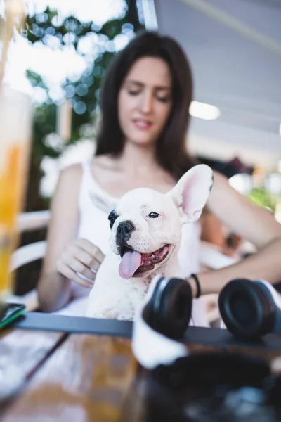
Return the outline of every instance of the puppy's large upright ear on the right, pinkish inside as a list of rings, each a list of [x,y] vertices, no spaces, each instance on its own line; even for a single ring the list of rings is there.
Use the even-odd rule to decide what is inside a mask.
[[[185,223],[196,222],[199,219],[212,185],[213,172],[211,168],[200,164],[183,174],[176,186],[169,192]]]

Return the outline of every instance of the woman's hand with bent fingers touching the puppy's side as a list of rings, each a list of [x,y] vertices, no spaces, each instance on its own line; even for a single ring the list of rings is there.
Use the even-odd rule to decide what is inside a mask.
[[[86,239],[76,239],[57,260],[57,271],[67,279],[84,287],[93,287],[93,281],[105,255]]]

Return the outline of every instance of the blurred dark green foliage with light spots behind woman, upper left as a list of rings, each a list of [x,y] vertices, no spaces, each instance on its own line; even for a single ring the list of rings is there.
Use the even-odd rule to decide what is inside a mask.
[[[82,125],[93,122],[98,104],[100,82],[107,65],[115,55],[115,51],[112,51],[113,49],[105,49],[101,47],[101,44],[114,40],[118,34],[126,33],[128,26],[133,31],[142,27],[136,15],[136,2],[127,0],[126,3],[126,12],[122,18],[107,21],[101,27],[98,27],[93,22],[80,22],[75,16],[61,18],[58,11],[49,7],[43,13],[27,15],[18,27],[22,37],[27,38],[31,44],[41,43],[61,50],[65,49],[65,46],[71,46],[79,55],[86,59],[87,67],[81,77],[76,81],[65,80],[62,87],[65,98],[72,101],[73,107],[72,135],[70,141],[64,144],[64,147],[81,138],[80,128]],[[86,37],[91,37],[92,39],[96,37],[93,51],[88,53],[84,53],[80,48],[80,41]],[[100,41],[103,41],[103,43],[100,43]],[[39,190],[39,179],[42,177],[39,170],[41,160],[44,156],[58,158],[61,151],[46,144],[46,135],[54,133],[56,129],[58,104],[49,95],[48,85],[41,75],[32,70],[27,70],[26,75],[33,87],[43,89],[46,94],[46,101],[38,105],[34,112],[32,172],[27,185],[29,190],[27,192],[27,210],[33,210],[34,191],[36,189]],[[36,184],[36,189],[34,186],[32,188],[31,184]],[[37,195],[39,196],[39,192]],[[37,204],[36,209],[38,209],[38,200],[35,202]]]

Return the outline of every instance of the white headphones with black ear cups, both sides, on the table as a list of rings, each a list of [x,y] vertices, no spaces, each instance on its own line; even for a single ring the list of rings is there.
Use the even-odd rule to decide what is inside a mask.
[[[281,296],[268,281],[234,279],[218,296],[221,318],[237,338],[281,334]],[[183,279],[156,276],[133,324],[133,352],[145,368],[171,364],[188,354],[181,343],[192,311],[192,292]]]

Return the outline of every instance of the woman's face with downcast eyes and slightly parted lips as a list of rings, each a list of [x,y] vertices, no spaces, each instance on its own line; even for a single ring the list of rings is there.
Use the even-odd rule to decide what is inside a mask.
[[[171,111],[171,84],[164,60],[136,60],[118,96],[119,124],[127,142],[148,146],[156,141]]]

